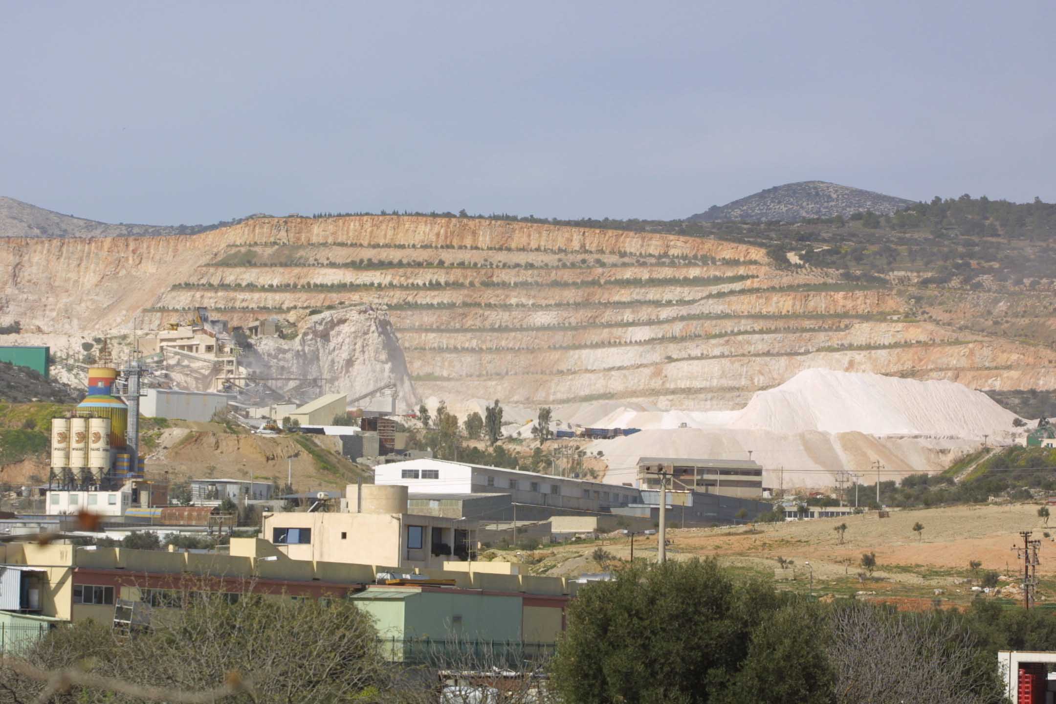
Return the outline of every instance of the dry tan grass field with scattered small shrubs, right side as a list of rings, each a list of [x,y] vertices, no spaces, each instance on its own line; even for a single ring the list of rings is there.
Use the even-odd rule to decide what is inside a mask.
[[[790,559],[796,578],[778,583],[780,588],[823,596],[856,593],[925,605],[938,597],[963,605],[977,595],[972,587],[986,571],[1003,577],[998,597],[1021,598],[1022,563],[1017,563],[1013,546],[1022,544],[1020,531],[1030,530],[1032,537],[1042,540],[1039,601],[1056,602],[1056,541],[1044,537],[1049,528],[1038,517],[1038,508],[1032,503],[958,506],[892,511],[890,518],[867,514],[754,527],[675,529],[668,531],[667,550],[670,558],[714,556],[735,571],[768,579],[774,578],[778,557]],[[924,526],[920,536],[912,530],[917,522]],[[841,524],[847,525],[842,544],[835,530]],[[1056,535],[1056,527],[1051,532]],[[540,550],[534,553],[538,562],[532,571],[552,575],[598,571],[603,566],[591,557],[598,547],[618,560],[630,557],[626,537],[601,538]],[[656,559],[656,547],[655,537],[637,537],[635,558]],[[860,566],[867,552],[876,556],[871,576]],[[973,571],[969,560],[979,560],[982,567]]]

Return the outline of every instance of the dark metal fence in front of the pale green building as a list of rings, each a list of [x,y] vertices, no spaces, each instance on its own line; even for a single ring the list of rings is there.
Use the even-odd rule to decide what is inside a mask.
[[[511,670],[542,665],[557,649],[553,643],[395,636],[378,639],[378,646],[391,662],[437,667],[487,666]]]

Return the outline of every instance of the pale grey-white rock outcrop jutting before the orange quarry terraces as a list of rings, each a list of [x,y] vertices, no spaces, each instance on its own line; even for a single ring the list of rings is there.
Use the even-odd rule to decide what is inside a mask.
[[[310,316],[294,340],[259,338],[244,361],[262,376],[326,379],[327,394],[355,398],[390,381],[397,408],[417,407],[418,396],[389,316],[372,307]]]

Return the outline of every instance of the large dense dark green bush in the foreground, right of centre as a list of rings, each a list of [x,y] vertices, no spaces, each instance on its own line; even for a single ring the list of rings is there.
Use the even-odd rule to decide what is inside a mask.
[[[551,679],[577,704],[827,703],[816,613],[714,559],[631,567],[569,603]]]

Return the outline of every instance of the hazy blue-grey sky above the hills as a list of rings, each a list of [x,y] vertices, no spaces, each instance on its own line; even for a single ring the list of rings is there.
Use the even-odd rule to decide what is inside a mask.
[[[1056,3],[0,0],[0,195],[109,222],[1056,201]]]

